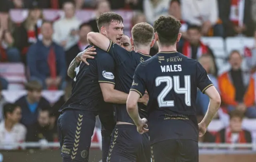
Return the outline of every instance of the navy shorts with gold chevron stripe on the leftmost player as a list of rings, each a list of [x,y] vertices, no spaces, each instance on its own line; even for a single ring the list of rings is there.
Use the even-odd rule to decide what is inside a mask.
[[[95,126],[90,111],[66,109],[58,119],[58,134],[63,162],[88,162]]]

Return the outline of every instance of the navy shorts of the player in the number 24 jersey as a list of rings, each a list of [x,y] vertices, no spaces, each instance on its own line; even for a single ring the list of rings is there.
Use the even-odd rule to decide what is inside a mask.
[[[198,142],[188,139],[171,139],[156,142],[151,146],[152,161],[198,162]]]

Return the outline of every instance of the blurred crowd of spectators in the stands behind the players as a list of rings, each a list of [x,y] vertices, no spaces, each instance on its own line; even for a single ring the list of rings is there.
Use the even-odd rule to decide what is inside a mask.
[[[28,9],[24,22],[16,23],[10,10]],[[63,10],[53,22],[45,20],[42,10]],[[75,14],[78,10],[94,10],[88,22]],[[112,10],[132,10],[131,29],[137,23],[153,24],[160,15],[172,15],[182,22],[182,40],[177,50],[198,61],[222,97],[222,111],[230,115],[229,126],[200,142],[252,142],[249,131],[242,129],[244,118],[256,119],[255,83],[256,48],[245,47],[244,53],[233,50],[227,58],[230,69],[219,73],[216,54],[201,41],[202,37],[255,37],[256,0],[0,0],[0,61],[23,63],[28,75],[24,86],[27,95],[15,103],[0,97],[0,143],[58,141],[56,120],[58,109],[71,93],[72,81],[67,77],[68,65],[88,45],[89,32],[98,32],[97,17]],[[124,31],[130,35],[130,31]],[[130,46],[123,38],[123,46]],[[256,43],[255,43],[256,47]],[[157,45],[150,55],[158,51]],[[242,69],[248,61],[249,70]],[[8,89],[6,78],[0,77],[1,89]],[[63,90],[64,95],[50,104],[42,90]],[[209,104],[206,95],[198,91],[198,121]],[[218,119],[216,115],[216,119]],[[100,127],[100,124],[98,124]],[[2,149],[13,149],[4,147]]]

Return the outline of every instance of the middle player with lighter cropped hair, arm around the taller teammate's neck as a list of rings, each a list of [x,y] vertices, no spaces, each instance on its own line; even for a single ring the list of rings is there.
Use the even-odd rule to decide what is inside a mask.
[[[128,93],[136,67],[151,57],[149,51],[154,45],[153,37],[154,28],[150,24],[139,23],[132,28],[130,39],[135,51],[129,52],[99,33],[88,33],[87,40],[112,55],[116,62],[115,89]],[[115,107],[117,123],[112,132],[108,162],[150,162],[148,134],[142,136],[136,131],[125,104],[116,104]],[[139,108],[141,117],[147,118],[146,106],[139,103]]]

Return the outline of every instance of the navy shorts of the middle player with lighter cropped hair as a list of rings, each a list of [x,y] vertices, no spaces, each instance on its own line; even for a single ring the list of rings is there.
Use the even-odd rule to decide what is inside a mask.
[[[117,124],[112,132],[110,149],[108,151],[107,162],[144,162],[137,160],[138,156],[142,155],[144,159],[143,140],[148,140],[148,137],[144,137],[137,132],[135,125],[131,124]],[[148,142],[148,141],[147,141]],[[149,144],[144,144],[149,146]],[[150,152],[150,148],[148,147]],[[150,153],[148,155],[150,162]]]

